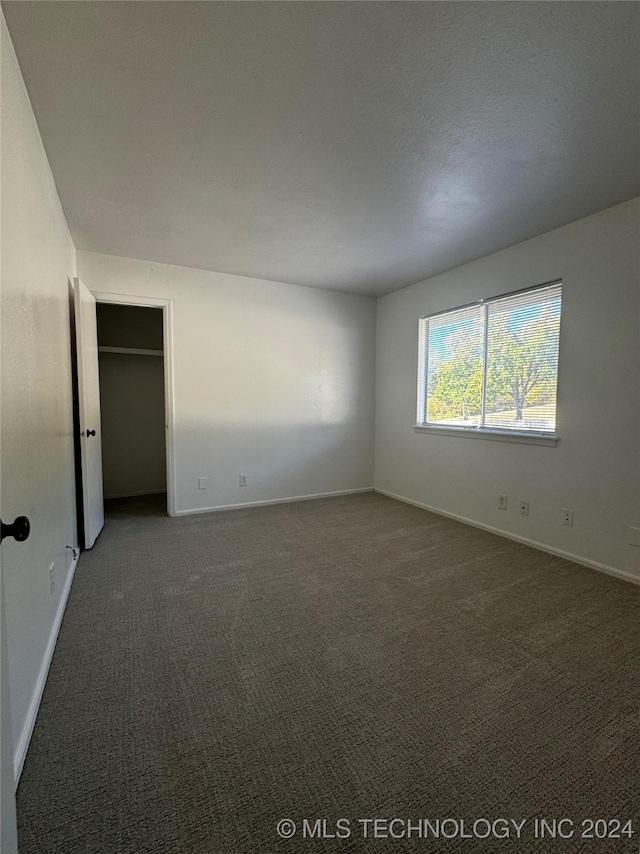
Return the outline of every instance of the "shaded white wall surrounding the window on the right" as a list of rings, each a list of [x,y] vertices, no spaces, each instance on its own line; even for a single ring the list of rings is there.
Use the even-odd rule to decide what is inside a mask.
[[[640,578],[639,226],[634,200],[381,298],[376,489]],[[414,431],[418,318],[558,278],[557,447]]]

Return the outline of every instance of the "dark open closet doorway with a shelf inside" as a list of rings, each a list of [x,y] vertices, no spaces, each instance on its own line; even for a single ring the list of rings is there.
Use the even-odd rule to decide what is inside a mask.
[[[148,496],[173,515],[170,305],[95,296],[104,499]]]

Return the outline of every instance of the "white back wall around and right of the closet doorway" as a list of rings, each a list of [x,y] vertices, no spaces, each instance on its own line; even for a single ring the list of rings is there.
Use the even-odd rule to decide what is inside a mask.
[[[374,299],[91,252],[78,269],[173,301],[178,513],[371,488]]]

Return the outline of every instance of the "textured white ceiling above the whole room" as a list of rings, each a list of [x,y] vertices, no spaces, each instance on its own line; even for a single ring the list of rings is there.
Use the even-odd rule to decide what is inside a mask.
[[[379,295],[640,195],[640,5],[6,2],[80,249]]]

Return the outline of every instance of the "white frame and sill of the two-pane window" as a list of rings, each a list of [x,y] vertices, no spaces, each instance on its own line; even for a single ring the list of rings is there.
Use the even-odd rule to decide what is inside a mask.
[[[430,314],[421,315],[418,321],[418,372],[417,372],[417,395],[416,395],[416,423],[414,425],[415,432],[438,433],[445,436],[467,436],[478,439],[504,440],[517,442],[521,444],[534,445],[549,445],[555,446],[558,442],[557,433],[557,411],[558,411],[558,389],[559,389],[559,355],[560,355],[560,327],[558,329],[558,367],[556,368],[556,420],[553,431],[551,430],[535,430],[526,429],[520,430],[514,427],[499,427],[486,426],[484,420],[486,417],[486,372],[487,372],[487,357],[488,357],[488,335],[487,335],[487,316],[488,306],[491,303],[507,300],[511,297],[522,296],[535,291],[542,291],[550,288],[560,289],[560,326],[562,322],[562,279],[552,279],[539,285],[532,285],[528,288],[519,288],[515,291],[499,294],[494,297],[476,300],[474,302],[465,303],[464,305],[453,306],[452,308],[443,309],[441,311],[432,312]],[[445,314],[453,314],[465,309],[470,309],[475,306],[484,308],[483,323],[483,341],[482,341],[482,402],[481,412],[479,415],[479,424],[456,425],[445,424],[437,421],[427,421],[427,402],[428,402],[428,355],[429,355],[429,324],[428,321],[432,318],[442,317]]]

